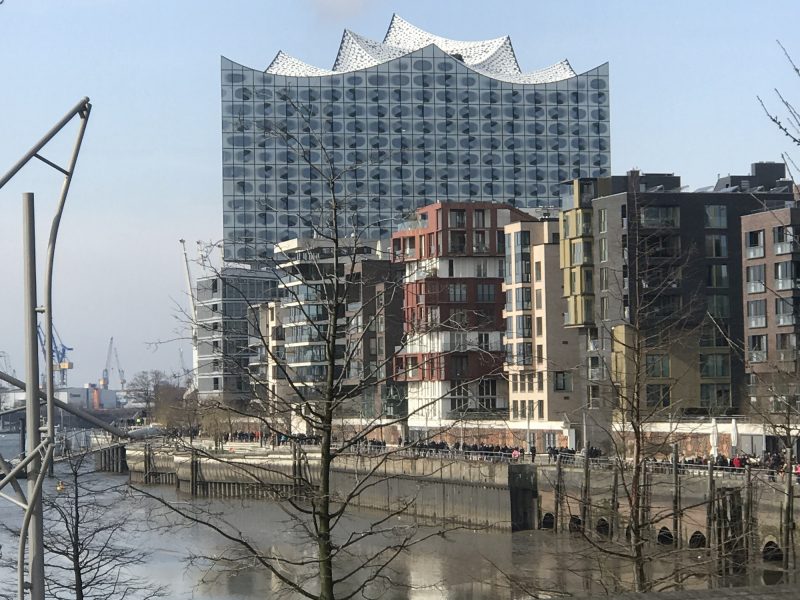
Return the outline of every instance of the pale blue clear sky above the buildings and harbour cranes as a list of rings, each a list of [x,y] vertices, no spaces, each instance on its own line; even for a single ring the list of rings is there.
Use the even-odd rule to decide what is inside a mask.
[[[800,57],[781,26],[798,21],[796,0],[5,0],[0,175],[82,97],[93,107],[56,253],[70,385],[100,378],[112,336],[128,379],[179,372],[180,349],[191,362],[178,240],[194,259],[197,240],[222,237],[220,56],[263,69],[284,50],[329,68],[345,28],[381,40],[394,12],[455,39],[510,35],[526,71],[608,61],[615,174],[673,172],[694,189],[791,151],[756,96],[800,97],[776,44],[786,32]],[[75,127],[43,154],[66,164]],[[21,197],[36,194],[43,271],[61,180],[31,163],[0,189],[0,352],[21,377]]]

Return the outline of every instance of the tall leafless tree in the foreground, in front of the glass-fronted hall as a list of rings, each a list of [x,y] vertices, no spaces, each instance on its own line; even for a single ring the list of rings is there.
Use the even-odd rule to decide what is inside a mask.
[[[254,485],[271,485],[289,526],[302,540],[300,545],[311,545],[314,552],[286,556],[260,548],[250,537],[204,511],[175,504],[170,508],[192,523],[210,527],[235,548],[221,558],[199,558],[223,569],[256,565],[284,588],[306,598],[347,599],[396,585],[392,562],[444,529],[422,533],[415,525],[397,526],[395,519],[414,503],[413,497],[398,499],[367,528],[348,529],[348,514],[359,498],[385,482],[390,476],[384,476],[384,471],[391,471],[388,466],[405,457],[405,447],[379,442],[386,441],[389,431],[402,431],[408,416],[398,410],[402,398],[381,397],[381,392],[401,388],[411,371],[398,368],[395,359],[398,347],[413,338],[414,332],[401,335],[397,347],[393,343],[384,352],[370,350],[371,340],[385,329],[387,321],[394,319],[398,325],[401,320],[395,311],[402,306],[402,273],[385,258],[374,260],[382,248],[365,239],[366,224],[359,214],[357,193],[350,192],[353,188],[348,184],[360,169],[380,158],[362,157],[340,165],[326,146],[325,135],[311,127],[306,107],[291,99],[290,103],[308,125],[303,133],[272,121],[261,124],[262,133],[290,152],[292,160],[308,166],[312,179],[322,182],[321,198],[302,217],[313,235],[277,244],[272,255],[259,257],[261,267],[276,282],[274,301],[258,305],[248,300],[245,290],[231,284],[234,289],[226,292],[227,297],[236,296],[247,303],[250,343],[261,358],[245,371],[237,352],[228,356],[221,348],[215,360],[223,362],[223,367],[240,369],[255,390],[255,398],[250,403],[206,399],[199,403],[199,410],[216,435],[227,421],[229,431],[258,428],[271,441],[284,442],[291,450],[291,466],[282,466],[280,461],[253,465],[200,447],[191,449]],[[305,344],[287,344],[291,341]],[[414,365],[413,369],[425,366]],[[440,400],[431,399],[416,410]],[[448,422],[431,428],[421,441],[437,438],[450,426]],[[315,443],[304,445],[308,441]],[[364,453],[368,456],[356,458]],[[342,465],[354,460],[361,461],[357,476],[337,479]]]

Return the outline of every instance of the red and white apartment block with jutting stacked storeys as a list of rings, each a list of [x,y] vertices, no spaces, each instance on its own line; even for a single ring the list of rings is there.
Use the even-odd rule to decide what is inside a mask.
[[[503,204],[436,203],[392,236],[405,267],[406,382],[414,438],[453,422],[508,418],[503,375],[504,227],[530,218]]]

